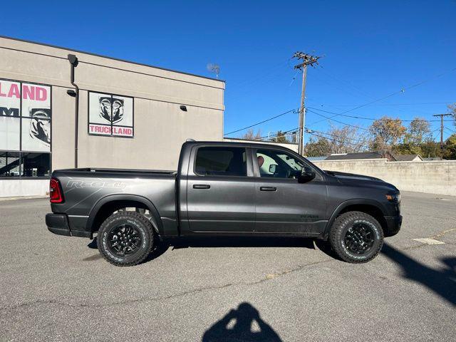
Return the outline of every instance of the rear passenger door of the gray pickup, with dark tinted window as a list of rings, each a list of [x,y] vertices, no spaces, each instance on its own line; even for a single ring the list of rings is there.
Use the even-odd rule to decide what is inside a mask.
[[[197,146],[187,176],[192,232],[253,232],[255,182],[245,147]],[[193,161],[193,162],[192,162]]]

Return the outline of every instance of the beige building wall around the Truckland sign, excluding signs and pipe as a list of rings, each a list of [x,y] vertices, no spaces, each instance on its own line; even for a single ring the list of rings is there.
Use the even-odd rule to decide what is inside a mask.
[[[78,167],[174,170],[187,138],[222,140],[223,81],[0,38],[0,78],[53,87],[53,170],[74,167],[75,98],[66,93],[74,89],[68,53],[79,61]],[[88,135],[89,90],[134,98],[133,139]]]

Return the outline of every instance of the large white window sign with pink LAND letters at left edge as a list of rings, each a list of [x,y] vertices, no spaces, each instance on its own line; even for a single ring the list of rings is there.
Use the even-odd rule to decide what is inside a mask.
[[[0,79],[0,150],[51,151],[51,86]]]

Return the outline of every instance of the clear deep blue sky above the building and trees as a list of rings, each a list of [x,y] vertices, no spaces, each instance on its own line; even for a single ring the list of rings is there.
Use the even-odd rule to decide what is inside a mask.
[[[346,115],[435,120],[456,102],[455,14],[453,0],[7,1],[0,24],[4,36],[203,76],[211,76],[207,63],[218,63],[228,133],[299,108],[295,51],[323,56],[309,69],[309,108],[343,113],[397,93]],[[297,122],[290,113],[257,128],[267,135]],[[436,138],[439,125],[432,123]],[[445,137],[456,130],[446,125]],[[329,122],[309,112],[306,126],[324,131]]]

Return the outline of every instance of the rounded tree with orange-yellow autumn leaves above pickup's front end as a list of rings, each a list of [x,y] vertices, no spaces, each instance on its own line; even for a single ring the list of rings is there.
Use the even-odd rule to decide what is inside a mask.
[[[373,150],[385,153],[393,150],[393,147],[403,138],[406,129],[399,118],[393,119],[383,116],[383,118],[372,123],[369,131],[373,135],[373,142],[371,143]]]

